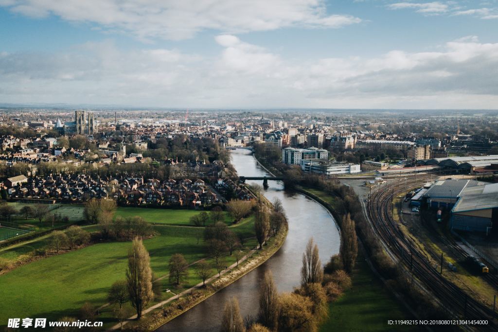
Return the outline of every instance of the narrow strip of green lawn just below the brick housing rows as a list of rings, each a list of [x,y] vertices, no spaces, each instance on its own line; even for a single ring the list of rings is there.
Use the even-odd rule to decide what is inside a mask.
[[[190,226],[192,225],[190,218],[201,212],[202,210],[118,207],[116,217],[128,218],[137,216],[150,223]],[[232,221],[228,213],[225,213],[225,221],[227,223]]]

